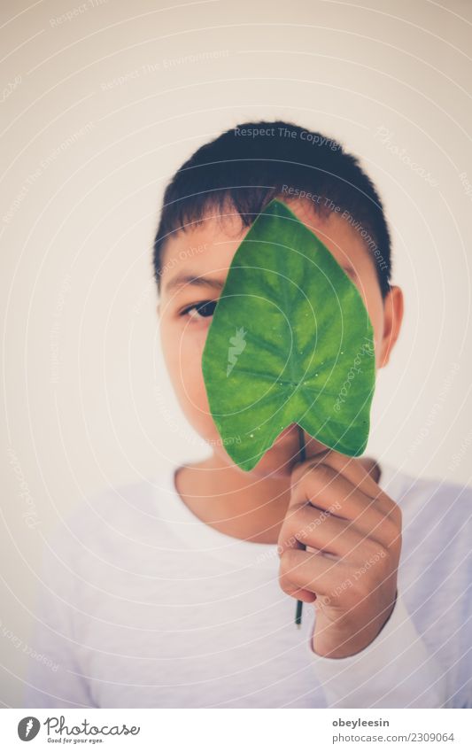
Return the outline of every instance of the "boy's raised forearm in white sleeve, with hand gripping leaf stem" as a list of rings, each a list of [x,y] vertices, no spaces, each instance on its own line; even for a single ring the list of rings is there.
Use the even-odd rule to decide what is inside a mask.
[[[295,469],[281,586],[314,603],[310,658],[334,707],[446,700],[445,678],[397,598],[401,528],[398,505],[358,461],[329,452]]]

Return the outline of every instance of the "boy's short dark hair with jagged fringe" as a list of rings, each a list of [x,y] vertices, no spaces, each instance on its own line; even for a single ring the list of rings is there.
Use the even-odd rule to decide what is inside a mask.
[[[154,241],[154,272],[162,273],[166,239],[211,211],[230,207],[244,227],[273,198],[311,200],[318,213],[336,211],[360,232],[375,260],[383,298],[390,290],[391,239],[374,183],[337,141],[292,123],[244,123],[201,146],[177,170],[164,194]]]

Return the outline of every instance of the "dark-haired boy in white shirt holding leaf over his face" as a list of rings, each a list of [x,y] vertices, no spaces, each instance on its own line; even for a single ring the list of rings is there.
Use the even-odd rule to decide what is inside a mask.
[[[372,182],[340,144],[245,123],[174,175],[155,240],[159,325],[182,410],[212,446],[89,500],[46,555],[26,707],[470,707],[468,489],[283,430],[249,473],[201,360],[228,267],[279,198],[350,275],[383,368],[402,293]],[[309,550],[305,550],[304,546]],[[298,631],[296,600],[306,606]]]

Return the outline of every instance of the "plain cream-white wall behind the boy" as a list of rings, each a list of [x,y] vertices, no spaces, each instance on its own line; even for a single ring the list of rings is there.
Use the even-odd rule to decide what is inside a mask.
[[[0,25],[0,701],[18,707],[43,534],[159,456],[207,454],[159,353],[151,243],[166,181],[222,129],[293,120],[361,157],[406,294],[368,454],[468,483],[472,6],[20,0]]]

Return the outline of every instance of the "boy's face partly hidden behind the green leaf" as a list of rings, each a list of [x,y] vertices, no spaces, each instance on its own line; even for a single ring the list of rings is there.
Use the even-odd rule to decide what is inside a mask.
[[[388,362],[398,337],[402,316],[401,291],[392,288],[383,302],[375,261],[360,235],[338,214],[330,213],[326,219],[321,219],[313,213],[310,205],[299,200],[286,203],[321,239],[358,287],[374,328],[375,366],[382,368]],[[185,310],[190,306],[202,306],[205,301],[218,300],[228,267],[248,231],[248,228],[242,228],[236,214],[230,219],[209,218],[194,229],[170,237],[161,260],[158,306],[166,366],[182,410],[197,433],[213,446],[221,461],[233,467],[237,466],[226,453],[213,423],[202,373],[202,353],[214,305],[210,303],[201,314],[195,307],[187,313]],[[210,282],[179,282],[182,275],[205,276]],[[307,435],[305,438],[307,457],[325,448],[315,439]],[[297,459],[297,452],[298,430],[295,427],[284,430],[251,472],[258,477],[287,476]]]

